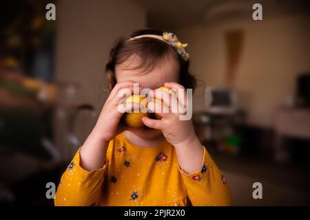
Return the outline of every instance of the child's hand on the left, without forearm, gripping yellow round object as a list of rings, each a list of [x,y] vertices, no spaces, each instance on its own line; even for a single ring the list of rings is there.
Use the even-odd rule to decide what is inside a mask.
[[[125,124],[120,123],[123,113],[118,111],[118,104],[124,98],[118,96],[118,92],[121,89],[130,89],[133,94],[134,81],[117,83],[107,98],[93,130],[96,136],[103,142],[110,142],[118,133],[129,129]]]

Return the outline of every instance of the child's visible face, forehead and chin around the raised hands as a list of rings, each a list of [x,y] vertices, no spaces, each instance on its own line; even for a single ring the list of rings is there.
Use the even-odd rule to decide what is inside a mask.
[[[166,58],[163,58],[163,60],[158,61],[156,66],[147,72],[144,72],[143,68],[132,70],[132,67],[136,67],[139,64],[138,62],[140,62],[140,58],[133,55],[121,65],[116,65],[115,72],[117,83],[132,80],[139,83],[142,88],[156,89],[167,82],[179,82],[178,63],[172,56],[167,56]],[[133,132],[136,135],[147,139],[153,139],[161,135],[161,131],[155,129],[143,128],[136,129]]]

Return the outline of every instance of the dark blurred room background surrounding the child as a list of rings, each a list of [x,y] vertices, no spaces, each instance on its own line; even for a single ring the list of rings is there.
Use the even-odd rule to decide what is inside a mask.
[[[306,0],[1,1],[0,203],[52,206],[45,185],[58,185],[109,94],[112,44],[158,28],[189,43],[196,132],[234,205],[309,206],[309,27]]]

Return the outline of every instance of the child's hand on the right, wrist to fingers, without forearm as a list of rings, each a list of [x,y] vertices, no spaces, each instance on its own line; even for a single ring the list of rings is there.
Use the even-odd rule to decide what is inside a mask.
[[[160,98],[159,95],[162,93],[167,93],[167,91],[158,91],[157,95],[155,96],[156,99],[161,99],[165,104],[161,104],[161,102],[149,102],[148,109],[156,114],[160,115],[162,118],[160,120],[154,120],[147,117],[143,117],[143,123],[152,128],[152,129],[160,129],[163,132],[166,140],[170,142],[172,145],[183,145],[183,143],[189,143],[194,138],[196,138],[196,134],[194,132],[194,126],[192,120],[180,120],[180,115],[184,115],[184,111],[180,111],[182,108],[186,107],[187,104],[187,96],[186,96],[186,89],[178,84],[178,83],[165,83],[165,87],[169,89],[176,89],[176,96],[172,96],[169,94],[169,102],[163,99],[163,96]],[[180,91],[179,89],[183,89]],[[184,98],[180,98],[180,92],[183,92]],[[154,93],[153,93],[154,94]],[[152,95],[152,94],[151,94]],[[156,94],[155,94],[156,95]],[[165,102],[166,101],[166,102]],[[172,112],[172,102],[177,102],[178,104],[178,112]],[[169,113],[158,113],[156,112],[156,105],[160,105],[161,110],[163,108],[169,107]]]

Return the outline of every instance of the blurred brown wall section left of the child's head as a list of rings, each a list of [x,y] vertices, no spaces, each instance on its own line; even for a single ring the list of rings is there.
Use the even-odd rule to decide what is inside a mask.
[[[57,46],[56,80],[76,83],[79,90],[74,102],[92,104],[97,112],[107,98],[104,67],[112,43],[118,36],[144,28],[145,10],[128,0],[62,0],[56,4]],[[59,94],[60,103],[68,98]],[[70,146],[66,141],[66,118],[56,115],[56,144],[67,159]],[[90,118],[80,121],[76,133],[84,141],[92,125]]]

